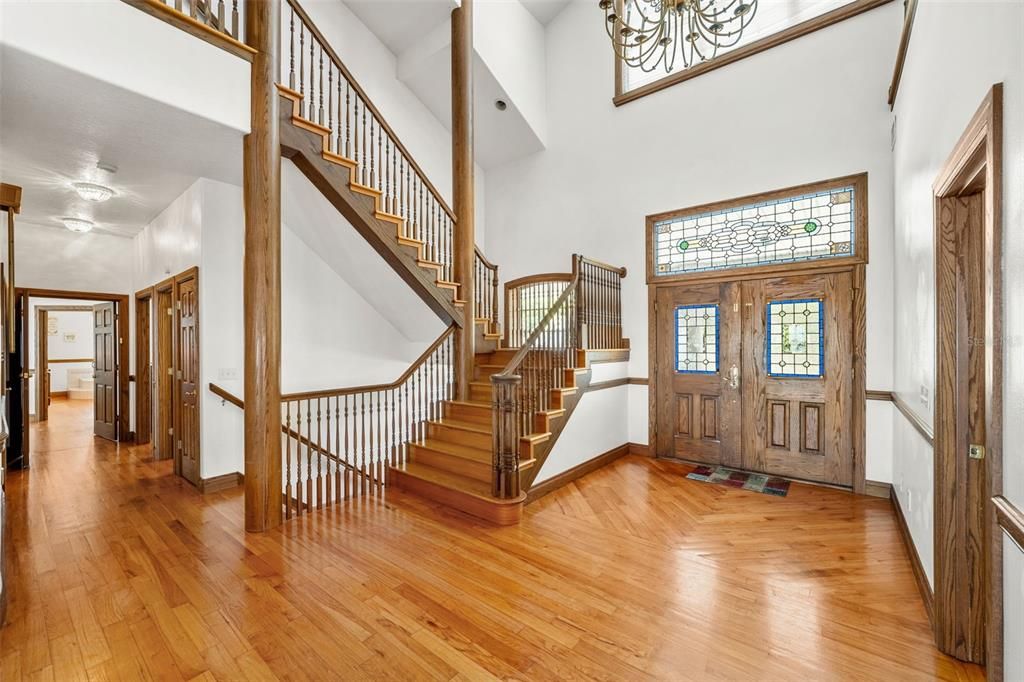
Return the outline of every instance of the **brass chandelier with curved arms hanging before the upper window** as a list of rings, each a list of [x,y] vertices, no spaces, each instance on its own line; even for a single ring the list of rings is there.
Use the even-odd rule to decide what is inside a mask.
[[[600,0],[615,56],[649,73],[710,59],[739,42],[758,0]]]

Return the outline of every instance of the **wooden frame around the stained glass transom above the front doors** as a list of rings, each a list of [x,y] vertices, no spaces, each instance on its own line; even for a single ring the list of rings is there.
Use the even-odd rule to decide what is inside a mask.
[[[678,218],[680,216],[688,215],[691,213],[708,213],[712,211],[721,211],[724,209],[732,209],[740,206],[746,206],[748,204],[756,204],[776,199],[786,199],[788,197],[793,197],[796,195],[808,195],[845,186],[853,186],[854,189],[853,229],[854,229],[854,244],[856,246],[854,247],[854,253],[851,256],[844,256],[839,258],[816,258],[816,259],[802,260],[796,262],[768,263],[765,265],[741,265],[736,267],[723,267],[714,270],[678,272],[676,274],[658,275],[655,271],[656,264],[654,262],[653,247],[654,247],[654,225],[657,222],[660,222],[663,220],[669,220],[672,218]],[[669,284],[676,282],[716,282],[723,280],[727,281],[745,280],[745,279],[775,274],[778,272],[793,274],[795,272],[800,272],[805,270],[820,271],[822,270],[822,268],[843,269],[843,268],[849,268],[851,265],[866,264],[867,254],[868,254],[867,173],[865,172],[865,173],[858,173],[856,175],[846,175],[844,177],[838,177],[831,180],[821,180],[819,182],[799,184],[793,187],[785,187],[783,189],[774,189],[772,191],[763,191],[756,195],[748,195],[746,197],[737,197],[735,199],[728,199],[721,202],[713,202],[711,204],[690,206],[687,208],[676,209],[674,211],[667,211],[665,213],[654,213],[647,216],[645,231],[646,231],[645,260],[647,263],[648,285]]]

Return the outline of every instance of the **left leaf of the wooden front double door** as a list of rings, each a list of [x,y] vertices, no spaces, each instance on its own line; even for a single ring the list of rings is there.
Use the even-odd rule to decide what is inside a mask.
[[[657,456],[739,466],[739,286],[658,288],[655,317]]]

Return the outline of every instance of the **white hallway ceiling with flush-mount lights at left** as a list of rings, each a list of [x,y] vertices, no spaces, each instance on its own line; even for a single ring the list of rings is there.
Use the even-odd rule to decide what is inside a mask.
[[[132,237],[199,177],[241,184],[238,131],[9,46],[0,47],[0,177],[24,188],[26,222],[82,217],[97,232]],[[76,181],[117,196],[84,201]]]

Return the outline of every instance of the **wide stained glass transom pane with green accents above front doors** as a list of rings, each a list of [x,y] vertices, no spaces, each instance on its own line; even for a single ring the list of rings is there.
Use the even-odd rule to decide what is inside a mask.
[[[654,223],[658,276],[854,254],[852,186]]]

